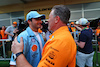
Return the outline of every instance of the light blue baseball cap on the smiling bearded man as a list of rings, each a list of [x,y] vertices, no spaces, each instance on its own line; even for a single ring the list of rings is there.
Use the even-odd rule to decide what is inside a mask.
[[[28,21],[29,19],[31,18],[41,18],[41,19],[45,19],[45,15],[44,14],[39,14],[37,11],[30,11],[28,14],[27,14],[27,17],[26,17],[26,21]]]

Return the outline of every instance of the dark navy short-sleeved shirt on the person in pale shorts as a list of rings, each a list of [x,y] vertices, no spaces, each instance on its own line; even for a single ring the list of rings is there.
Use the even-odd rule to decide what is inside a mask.
[[[81,34],[79,35],[79,42],[85,42],[84,48],[81,48],[78,46],[78,51],[85,53],[85,54],[90,54],[93,52],[93,47],[92,47],[92,38],[93,38],[93,32],[92,30],[89,29],[83,29],[81,31]]]

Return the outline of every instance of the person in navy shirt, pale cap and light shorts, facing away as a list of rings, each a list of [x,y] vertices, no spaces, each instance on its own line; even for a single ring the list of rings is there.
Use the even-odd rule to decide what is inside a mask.
[[[88,67],[93,67],[93,32],[90,28],[87,28],[88,20],[86,18],[80,18],[79,24],[82,28],[82,31],[79,35],[79,40],[75,40],[76,44],[78,45],[78,51],[76,55],[77,65],[79,67],[85,67],[85,65]]]

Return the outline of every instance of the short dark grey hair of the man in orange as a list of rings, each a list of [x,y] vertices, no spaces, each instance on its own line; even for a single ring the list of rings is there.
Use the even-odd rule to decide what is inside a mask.
[[[52,8],[54,10],[53,16],[59,16],[61,21],[67,24],[70,19],[70,10],[66,5],[56,5]]]

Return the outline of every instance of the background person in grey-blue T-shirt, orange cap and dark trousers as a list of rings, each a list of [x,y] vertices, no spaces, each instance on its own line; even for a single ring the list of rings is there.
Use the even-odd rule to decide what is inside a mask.
[[[5,30],[5,34],[8,35],[9,41],[6,42],[7,44],[7,51],[10,52],[9,57],[11,56],[11,44],[12,41],[14,40],[14,33],[17,33],[17,22],[13,22],[11,26],[8,26]],[[8,53],[9,54],[9,53]]]

